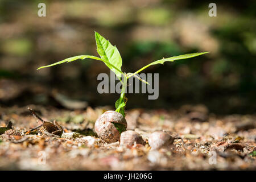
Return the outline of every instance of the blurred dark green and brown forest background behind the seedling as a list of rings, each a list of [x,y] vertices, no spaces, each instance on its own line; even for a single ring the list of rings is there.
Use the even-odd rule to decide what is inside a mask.
[[[126,72],[183,53],[207,55],[155,65],[159,98],[128,94],[127,108],[174,109],[204,104],[219,114],[256,109],[256,2],[220,1],[42,1],[0,0],[0,105],[52,102],[52,90],[90,106],[114,105],[118,94],[98,94],[99,61],[77,61],[36,71],[76,55],[97,55],[94,31],[115,44]]]

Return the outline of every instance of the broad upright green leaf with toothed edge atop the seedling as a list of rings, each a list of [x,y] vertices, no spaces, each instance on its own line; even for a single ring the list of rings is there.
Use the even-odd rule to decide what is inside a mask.
[[[118,49],[115,46],[112,46],[109,40],[106,40],[103,36],[98,34],[98,32],[95,32],[95,39],[97,44],[97,52],[101,56],[101,59],[103,59],[105,63],[107,62],[113,64],[119,70],[117,71],[109,64],[106,64],[120,79],[122,76],[122,58]]]

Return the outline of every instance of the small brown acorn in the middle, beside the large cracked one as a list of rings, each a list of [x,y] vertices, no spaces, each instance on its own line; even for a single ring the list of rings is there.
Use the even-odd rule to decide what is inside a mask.
[[[146,144],[136,131],[128,130],[121,133],[120,145],[121,146],[133,146],[134,143]]]

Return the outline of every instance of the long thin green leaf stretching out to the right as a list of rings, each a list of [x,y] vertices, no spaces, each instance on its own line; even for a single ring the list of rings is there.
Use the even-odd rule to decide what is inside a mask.
[[[130,75],[128,78],[130,78],[131,76],[136,75],[137,73],[143,71],[144,69],[146,69],[147,67],[150,67],[151,65],[164,64],[164,62],[166,62],[166,61],[175,61],[175,60],[180,60],[180,59],[188,59],[188,58],[191,58],[191,57],[196,57],[196,56],[203,55],[205,53],[209,53],[209,52],[188,53],[188,54],[185,54],[185,55],[179,55],[179,56],[168,57],[166,59],[160,59],[160,60],[154,61],[154,62],[144,66],[143,68],[139,69],[137,72]]]

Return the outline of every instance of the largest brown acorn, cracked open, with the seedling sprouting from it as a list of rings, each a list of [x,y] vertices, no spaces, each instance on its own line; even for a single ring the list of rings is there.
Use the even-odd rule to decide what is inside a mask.
[[[123,115],[113,110],[100,115],[94,125],[98,137],[107,143],[117,142],[126,128],[127,122]]]

